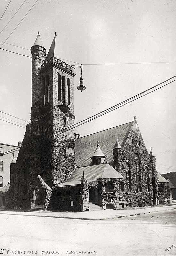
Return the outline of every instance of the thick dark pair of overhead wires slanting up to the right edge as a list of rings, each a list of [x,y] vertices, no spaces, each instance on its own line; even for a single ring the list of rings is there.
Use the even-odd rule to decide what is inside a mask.
[[[151,92],[154,92],[154,91],[156,91],[156,90],[158,90],[158,89],[160,89],[160,88],[162,88],[162,87],[164,87],[164,86],[166,86],[166,85],[168,85],[168,84],[173,83],[174,81],[176,81],[176,79],[173,80],[173,81],[171,81],[171,82],[169,82],[169,83],[167,83],[167,84],[164,84],[164,85],[160,86],[159,88],[156,88],[155,90],[153,90],[153,91],[151,91],[151,92],[148,92],[149,90],[151,90],[151,89],[155,88],[156,86],[161,85],[161,84],[163,84],[163,83],[165,83],[165,82],[171,80],[171,79],[174,78],[174,77],[176,77],[176,76],[172,76],[171,78],[165,80],[164,82],[161,82],[160,84],[154,85],[154,86],[150,87],[149,89],[147,89],[147,90],[145,90],[145,91],[143,91],[143,92],[140,92],[139,94],[136,94],[135,96],[132,96],[131,98],[129,98],[129,99],[127,99],[127,100],[124,100],[124,101],[122,101],[122,102],[116,104],[115,106],[113,106],[113,107],[111,107],[111,108],[108,108],[108,109],[106,109],[106,110],[104,110],[104,111],[101,111],[100,113],[98,113],[98,114],[96,114],[96,115],[93,115],[93,116],[91,116],[91,117],[88,117],[88,118],[86,118],[86,119],[84,119],[84,120],[82,120],[82,121],[80,121],[80,122],[78,122],[78,123],[76,123],[76,124],[73,124],[73,125],[71,125],[71,126],[65,128],[65,129],[60,130],[59,132],[55,132],[53,136],[46,136],[46,137],[44,137],[44,138],[40,138],[40,139],[38,139],[38,140],[36,140],[36,141],[33,141],[33,142],[31,142],[31,143],[28,143],[28,144],[22,146],[22,147],[26,147],[26,146],[28,146],[28,145],[30,145],[30,144],[36,143],[36,142],[38,142],[38,141],[40,141],[40,140],[43,140],[43,139],[46,139],[46,138],[51,138],[51,137],[58,136],[58,135],[60,135],[61,133],[68,132],[69,130],[72,130],[72,129],[74,129],[74,128],[76,128],[76,127],[82,125],[82,124],[85,124],[85,123],[87,123],[87,122],[90,122],[90,121],[92,121],[92,120],[94,120],[94,119],[96,119],[96,118],[98,118],[98,117],[100,117],[100,116],[103,116],[103,115],[105,115],[105,114],[107,114],[107,113],[109,113],[109,112],[111,112],[111,111],[113,111],[113,110],[115,110],[115,109],[117,109],[117,108],[123,107],[124,105],[129,104],[129,103],[131,103],[131,102],[134,101],[134,100],[140,99],[141,97],[146,96],[147,94],[149,94],[149,93],[151,93]],[[145,92],[148,92],[148,93],[146,93],[146,94],[140,96],[142,93],[145,93]],[[138,96],[140,96],[140,97],[138,97]],[[136,97],[138,97],[138,98],[136,98]],[[134,99],[134,98],[136,98],[136,99]],[[9,153],[11,153],[11,151],[4,152],[4,154],[9,154]]]

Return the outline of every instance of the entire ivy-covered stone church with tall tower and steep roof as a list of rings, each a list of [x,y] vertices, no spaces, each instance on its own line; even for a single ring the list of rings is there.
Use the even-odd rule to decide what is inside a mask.
[[[74,67],[54,56],[55,40],[56,34],[47,55],[39,33],[31,47],[31,123],[11,164],[6,206],[89,211],[157,204],[156,157],[136,117],[82,138],[77,132],[74,140]]]

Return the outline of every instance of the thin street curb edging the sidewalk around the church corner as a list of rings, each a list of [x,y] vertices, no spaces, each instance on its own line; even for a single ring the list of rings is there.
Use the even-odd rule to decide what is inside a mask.
[[[171,209],[165,209],[160,211],[153,211],[153,212],[141,212],[141,213],[134,213],[134,214],[127,214],[127,215],[120,215],[120,216],[113,216],[113,217],[107,217],[107,218],[77,218],[77,217],[61,217],[61,216],[48,216],[48,215],[31,215],[31,214],[14,214],[14,213],[4,213],[0,212],[0,214],[6,214],[6,215],[17,215],[17,216],[31,216],[31,217],[48,217],[48,218],[58,218],[58,219],[73,219],[73,220],[112,220],[112,219],[118,219],[123,217],[131,217],[131,216],[137,216],[137,215],[143,215],[148,213],[155,213],[155,212],[166,212],[176,210],[176,207],[173,207]]]

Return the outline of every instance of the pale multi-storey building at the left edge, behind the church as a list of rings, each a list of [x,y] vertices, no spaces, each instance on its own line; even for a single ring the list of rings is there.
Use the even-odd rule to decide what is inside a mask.
[[[0,143],[0,206],[5,205],[4,187],[10,182],[10,164],[17,158],[20,145],[20,141],[18,146]]]

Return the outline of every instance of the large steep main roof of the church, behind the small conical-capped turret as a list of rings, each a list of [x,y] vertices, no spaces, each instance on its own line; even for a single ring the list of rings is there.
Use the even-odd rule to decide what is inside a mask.
[[[105,154],[105,161],[109,164],[113,163],[113,149],[116,145],[116,137],[121,147],[124,147],[125,141],[128,137],[133,122],[122,124],[101,132],[96,132],[75,141],[75,161],[76,165],[90,165],[92,161],[90,156],[93,155],[97,145],[95,144],[98,140],[101,146],[101,150]]]

